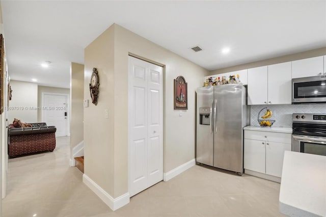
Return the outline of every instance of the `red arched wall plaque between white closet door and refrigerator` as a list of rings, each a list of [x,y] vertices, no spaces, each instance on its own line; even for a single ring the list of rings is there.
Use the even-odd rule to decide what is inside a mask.
[[[183,76],[178,76],[177,79],[174,79],[174,109],[188,109],[187,83]]]

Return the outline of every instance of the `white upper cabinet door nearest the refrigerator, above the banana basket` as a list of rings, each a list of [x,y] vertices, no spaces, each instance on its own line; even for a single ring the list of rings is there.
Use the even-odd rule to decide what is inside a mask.
[[[248,104],[267,104],[267,66],[248,69]]]

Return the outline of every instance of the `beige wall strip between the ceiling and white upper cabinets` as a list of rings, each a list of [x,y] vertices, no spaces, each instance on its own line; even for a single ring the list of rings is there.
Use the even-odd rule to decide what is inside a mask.
[[[237,70],[241,70],[241,69],[250,69],[250,68],[255,68],[255,67],[259,67],[259,66],[267,66],[267,65],[272,65],[272,64],[285,63],[285,62],[290,62],[290,61],[294,61],[294,60],[301,60],[301,59],[318,57],[318,56],[323,56],[323,55],[326,55],[326,47],[314,49],[314,50],[308,50],[308,51],[300,52],[300,53],[294,53],[292,55],[286,55],[286,56],[282,56],[282,57],[241,64],[241,65],[237,65],[237,66],[231,66],[231,67],[227,67],[227,68],[223,68],[223,69],[216,69],[216,70],[210,71],[207,75],[221,74],[224,72],[232,72],[232,71],[237,71]]]

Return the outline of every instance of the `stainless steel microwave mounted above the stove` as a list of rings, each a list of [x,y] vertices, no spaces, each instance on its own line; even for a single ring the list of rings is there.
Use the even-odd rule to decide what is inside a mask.
[[[326,75],[292,78],[292,104],[326,103]]]

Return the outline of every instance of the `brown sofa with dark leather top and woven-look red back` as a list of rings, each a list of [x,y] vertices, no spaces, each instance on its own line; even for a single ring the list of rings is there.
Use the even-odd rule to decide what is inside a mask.
[[[46,123],[31,123],[32,127],[14,127],[8,129],[8,155],[10,158],[22,154],[40,151],[53,151],[56,148],[55,126]]]

